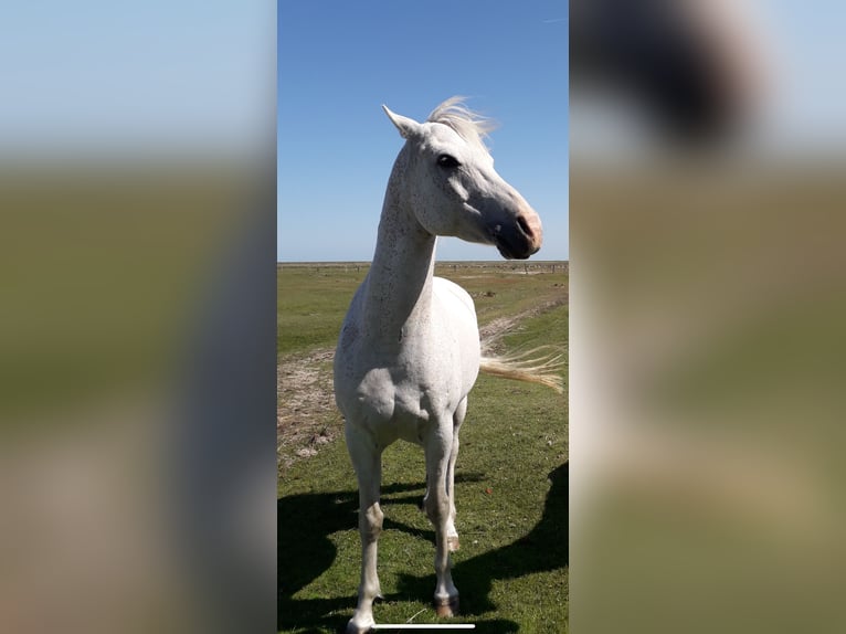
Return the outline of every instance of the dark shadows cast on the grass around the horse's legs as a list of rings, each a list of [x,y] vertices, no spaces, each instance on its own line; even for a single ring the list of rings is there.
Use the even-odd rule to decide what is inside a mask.
[[[456,474],[456,480],[480,479],[479,474]],[[480,615],[496,610],[488,598],[494,580],[514,579],[568,566],[568,468],[562,465],[550,475],[552,487],[547,494],[543,515],[532,530],[503,548],[462,561],[453,575],[462,591],[462,614]],[[382,487],[394,497],[391,504],[419,505],[425,484],[394,484]],[[341,632],[355,606],[355,590],[347,595],[328,599],[294,599],[294,595],[329,570],[337,548],[329,536],[358,525],[358,492],[297,494],[278,498],[277,508],[277,630]],[[410,532],[434,541],[432,530],[390,522],[385,529]],[[400,575],[400,589],[387,600],[411,595],[429,596],[435,583],[434,573]],[[519,625],[504,619],[476,621],[476,632],[504,634],[519,631]]]

